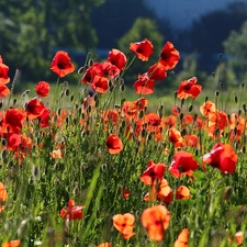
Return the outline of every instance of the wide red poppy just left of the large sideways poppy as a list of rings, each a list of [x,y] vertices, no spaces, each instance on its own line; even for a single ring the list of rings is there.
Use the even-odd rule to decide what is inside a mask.
[[[175,154],[169,171],[175,178],[179,178],[183,175],[192,176],[192,171],[197,170],[198,166],[192,154],[180,150]]]

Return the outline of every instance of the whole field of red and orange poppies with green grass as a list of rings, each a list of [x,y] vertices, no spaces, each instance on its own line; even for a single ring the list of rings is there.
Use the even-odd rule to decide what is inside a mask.
[[[61,78],[76,68],[57,52],[54,98],[40,81],[35,98],[25,91],[15,99],[0,57],[2,247],[247,246],[243,97],[226,112],[216,85],[195,111],[202,86],[191,75],[178,85],[170,114],[162,104],[151,112],[145,96],[177,66],[179,50],[167,42],[157,63],[141,68],[128,101],[124,75],[135,59],[148,63],[154,46],[145,38],[130,50],[88,59],[75,92]]]

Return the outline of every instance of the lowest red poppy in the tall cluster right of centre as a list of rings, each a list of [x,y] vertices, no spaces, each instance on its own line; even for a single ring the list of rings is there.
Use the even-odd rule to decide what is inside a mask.
[[[155,80],[150,80],[147,75],[138,75],[138,80],[134,86],[136,94],[150,94],[154,92]]]

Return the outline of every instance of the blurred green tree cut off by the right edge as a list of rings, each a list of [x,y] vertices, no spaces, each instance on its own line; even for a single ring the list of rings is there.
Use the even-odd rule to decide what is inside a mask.
[[[236,79],[242,83],[247,77],[247,21],[243,24],[239,32],[232,31],[228,38],[224,42],[225,53],[228,56],[229,67],[236,75]]]

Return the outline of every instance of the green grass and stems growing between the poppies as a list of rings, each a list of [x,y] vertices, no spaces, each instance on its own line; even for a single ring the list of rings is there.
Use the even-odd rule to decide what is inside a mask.
[[[215,96],[216,89],[205,90],[194,100],[187,99],[182,104],[182,114],[177,116],[176,128],[183,133],[183,138],[189,134],[199,136],[200,145],[178,148],[169,139],[169,126],[164,122],[161,128],[156,125],[148,128],[150,123],[142,122],[148,112],[156,113],[160,105],[160,116],[170,115],[175,103],[181,106],[181,100],[175,98],[175,90],[155,91],[146,97],[148,109],[138,112],[136,119],[130,120],[126,113],[119,112],[117,121],[113,123],[105,120],[105,111],[121,111],[121,102],[135,101],[141,96],[136,96],[132,88],[121,92],[116,87],[112,92],[98,96],[96,106],[83,109],[82,101],[88,96],[88,89],[83,91],[81,87],[64,87],[59,83],[52,87],[49,97],[42,99],[50,109],[47,127],[41,127],[37,120],[23,119],[20,135],[26,135],[32,142],[30,151],[23,150],[23,145],[7,149],[8,137],[1,128],[0,182],[5,187],[8,200],[0,201],[4,205],[0,213],[0,243],[21,239],[21,246],[29,247],[76,247],[111,242],[113,246],[161,247],[173,246],[181,229],[188,228],[191,247],[237,246],[235,242],[229,243],[228,237],[237,231],[245,232],[247,224],[246,127],[239,138],[229,138],[229,124],[223,130],[222,136],[211,137],[206,127],[195,127],[194,122],[184,123],[182,114],[190,113],[193,117],[197,114],[206,124],[200,105],[207,97],[215,102],[218,111],[232,114],[242,110],[246,120],[243,110],[245,89],[240,88],[236,93],[220,90],[218,97]],[[29,94],[11,96],[10,101],[4,99],[1,113],[10,108],[23,109],[23,104],[35,97],[34,85],[27,85],[27,88],[31,89]],[[13,99],[16,99],[15,104]],[[120,108],[115,108],[115,104]],[[67,112],[63,116],[65,109]],[[139,132],[138,127],[142,128]],[[130,128],[133,133],[127,135]],[[159,131],[160,141],[156,136]],[[116,134],[123,142],[123,149],[116,155],[108,151],[105,142],[110,134]],[[210,165],[203,168],[203,155],[220,142],[231,144],[238,156],[234,173],[224,175]],[[63,157],[56,159],[50,154],[57,149],[61,149]],[[199,164],[193,177],[175,178],[168,171],[178,150],[189,151]],[[144,201],[150,187],[139,178],[150,159],[166,164],[164,177],[173,195],[179,186],[187,186],[191,198],[173,198],[169,204],[157,199],[154,202]],[[127,199],[119,193],[120,188],[130,190]],[[224,199],[226,190],[228,194]],[[76,205],[85,206],[81,220],[65,221],[59,215],[70,199],[75,200]],[[156,204],[165,205],[171,215],[161,242],[149,239],[141,222],[142,213]],[[124,213],[135,216],[133,231],[136,235],[128,240],[116,231],[112,221],[115,214]],[[242,246],[247,246],[246,240]]]

